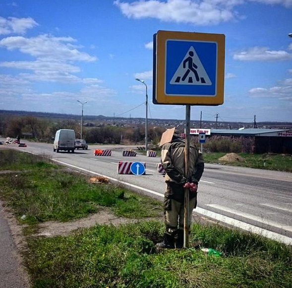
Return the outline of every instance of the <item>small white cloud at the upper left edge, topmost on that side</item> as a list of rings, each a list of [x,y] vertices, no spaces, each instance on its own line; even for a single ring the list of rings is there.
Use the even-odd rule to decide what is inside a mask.
[[[10,34],[10,33],[19,33],[24,34],[26,30],[31,29],[37,26],[38,23],[32,18],[15,18],[0,17],[0,35]]]

